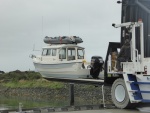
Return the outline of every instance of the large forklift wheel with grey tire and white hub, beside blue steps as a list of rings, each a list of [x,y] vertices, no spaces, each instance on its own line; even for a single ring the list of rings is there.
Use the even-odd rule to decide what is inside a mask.
[[[112,101],[117,108],[135,108],[136,104],[130,103],[125,82],[122,78],[114,81],[111,88]]]

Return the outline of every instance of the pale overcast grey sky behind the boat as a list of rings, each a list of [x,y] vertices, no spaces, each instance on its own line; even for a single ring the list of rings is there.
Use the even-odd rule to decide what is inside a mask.
[[[0,70],[34,70],[30,54],[41,54],[45,36],[79,36],[86,60],[105,59],[108,43],[120,41],[117,0],[0,0]]]

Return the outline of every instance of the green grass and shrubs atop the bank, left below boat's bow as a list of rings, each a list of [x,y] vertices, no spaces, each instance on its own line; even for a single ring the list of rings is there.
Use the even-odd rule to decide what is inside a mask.
[[[0,85],[11,88],[45,87],[51,89],[63,88],[64,83],[47,81],[38,72],[19,70],[0,74]]]

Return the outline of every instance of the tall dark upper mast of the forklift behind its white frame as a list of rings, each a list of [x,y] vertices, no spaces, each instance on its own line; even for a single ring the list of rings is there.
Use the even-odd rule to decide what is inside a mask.
[[[150,57],[150,0],[122,0],[121,23],[137,22],[144,24],[144,57]],[[126,28],[121,28],[121,45],[124,43]],[[130,37],[131,38],[131,37]],[[140,53],[139,29],[136,29],[136,49]]]

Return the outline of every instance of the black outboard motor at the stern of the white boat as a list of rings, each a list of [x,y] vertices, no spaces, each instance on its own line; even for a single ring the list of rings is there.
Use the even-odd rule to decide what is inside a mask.
[[[90,74],[94,79],[98,79],[99,73],[102,70],[102,64],[100,63],[98,58],[95,58],[94,64],[91,67]]]

